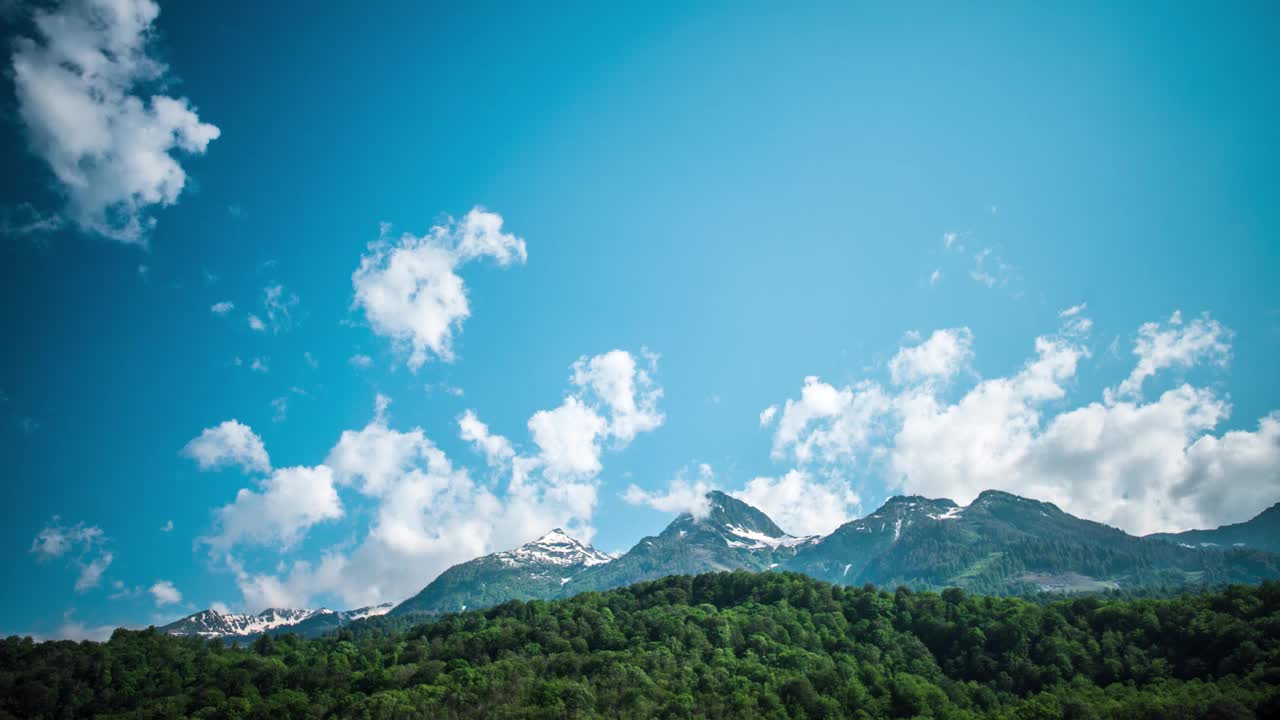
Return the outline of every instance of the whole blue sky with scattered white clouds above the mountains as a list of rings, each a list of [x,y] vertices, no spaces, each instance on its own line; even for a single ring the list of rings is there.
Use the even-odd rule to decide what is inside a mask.
[[[0,5],[0,634],[1280,501],[1274,4],[804,5]]]

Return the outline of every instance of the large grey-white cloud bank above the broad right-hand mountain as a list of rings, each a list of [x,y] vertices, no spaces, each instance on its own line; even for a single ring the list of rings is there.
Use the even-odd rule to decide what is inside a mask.
[[[929,380],[966,365],[965,328],[895,356],[895,382],[914,384],[836,388],[806,378],[800,398],[783,406],[774,455],[804,473],[859,474],[957,502],[1005,489],[1134,533],[1240,521],[1280,497],[1280,416],[1215,436],[1230,405],[1212,389],[1181,384],[1142,397],[1143,380],[1162,369],[1226,361],[1230,333],[1208,316],[1143,325],[1137,366],[1120,387],[1055,414],[1089,357],[1082,311],[1064,311],[1062,328],[1036,338],[1016,372],[980,379],[955,400]]]

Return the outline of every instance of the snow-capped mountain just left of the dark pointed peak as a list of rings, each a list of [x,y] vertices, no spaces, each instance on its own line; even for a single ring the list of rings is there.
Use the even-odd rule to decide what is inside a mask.
[[[392,610],[392,615],[458,612],[508,600],[556,597],[572,578],[611,560],[608,553],[557,528],[516,550],[449,568]]]

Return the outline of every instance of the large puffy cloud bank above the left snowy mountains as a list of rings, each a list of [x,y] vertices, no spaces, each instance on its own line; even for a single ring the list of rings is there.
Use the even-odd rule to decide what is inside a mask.
[[[549,528],[589,538],[605,442],[622,447],[662,421],[654,363],[641,368],[621,351],[580,359],[562,404],[530,418],[529,452],[467,410],[460,436],[506,479],[498,487],[476,482],[421,428],[392,427],[389,400],[378,396],[374,418],[343,432],[323,464],[278,469],[257,489],[241,489],[205,542],[236,574],[244,606],[261,609],[319,596],[352,607],[402,600],[453,564]],[[372,505],[353,548],[332,547],[274,573],[255,573],[238,556],[247,546],[294,547],[316,524],[343,518],[340,492]]]

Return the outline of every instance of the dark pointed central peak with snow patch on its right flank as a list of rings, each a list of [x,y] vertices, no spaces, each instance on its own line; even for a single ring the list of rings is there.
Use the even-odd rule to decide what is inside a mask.
[[[593,568],[564,584],[562,596],[622,587],[666,575],[717,570],[769,570],[817,538],[785,533],[768,515],[722,492],[708,493],[705,518],[682,514],[613,562]]]

